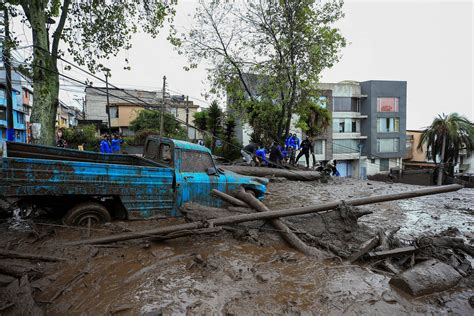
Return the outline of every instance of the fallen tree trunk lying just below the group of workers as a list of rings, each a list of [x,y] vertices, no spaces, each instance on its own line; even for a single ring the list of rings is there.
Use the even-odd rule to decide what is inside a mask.
[[[220,166],[224,170],[233,171],[245,176],[283,177],[289,180],[314,181],[321,178],[318,171],[287,170],[277,168],[247,167],[247,166]]]

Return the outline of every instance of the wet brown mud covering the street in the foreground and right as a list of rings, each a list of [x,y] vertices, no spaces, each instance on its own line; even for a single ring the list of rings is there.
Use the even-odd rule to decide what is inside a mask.
[[[277,210],[418,188],[351,179],[334,179],[327,184],[283,180],[269,184],[264,202]],[[366,205],[357,210],[372,213],[360,217],[355,226],[348,223],[338,227],[330,218],[321,220],[318,214],[287,220],[321,240],[340,237],[339,241],[345,240],[345,244],[339,244],[343,249],[357,247],[377,229],[395,226],[401,227],[396,237],[407,242],[447,229],[471,245],[474,238],[473,189]],[[182,221],[113,222],[95,227],[91,235],[139,232]],[[363,261],[349,264],[335,257],[321,261],[297,252],[263,222],[234,225],[211,235],[96,246],[64,245],[88,238],[85,229],[61,227],[60,221],[46,219],[35,222],[3,221],[0,248],[67,260],[38,263],[0,259],[2,265],[16,265],[18,271],[26,271],[29,285],[22,290],[20,282],[19,292],[27,297],[24,292],[29,289],[39,306],[35,309],[30,302],[28,310],[30,305],[23,298],[22,304],[14,301],[14,305],[0,311],[2,314],[471,315],[473,311],[471,269],[450,290],[414,298],[390,285],[388,274],[377,273]],[[324,230],[328,233],[321,233]],[[468,259],[472,262],[471,257]],[[6,298],[8,291],[14,291],[11,285],[7,287],[11,277],[3,275],[1,281],[2,297]],[[0,308],[6,303],[0,302]]]

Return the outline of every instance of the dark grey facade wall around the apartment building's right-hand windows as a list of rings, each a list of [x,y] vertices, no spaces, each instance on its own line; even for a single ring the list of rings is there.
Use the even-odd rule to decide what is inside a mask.
[[[406,81],[379,81],[371,80],[360,83],[362,94],[367,98],[362,99],[361,113],[368,118],[361,122],[362,135],[367,135],[363,141],[364,153],[371,157],[398,158],[405,155],[406,144],[406,107],[407,107],[407,83]],[[377,98],[396,97],[399,98],[398,112],[377,112]],[[398,117],[400,119],[400,130],[396,133],[378,133],[377,118]],[[377,152],[378,138],[398,138],[399,150],[394,153]]]

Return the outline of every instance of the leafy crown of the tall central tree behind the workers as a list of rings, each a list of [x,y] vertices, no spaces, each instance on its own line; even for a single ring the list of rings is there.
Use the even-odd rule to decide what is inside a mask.
[[[258,138],[282,138],[293,113],[317,94],[320,73],[346,45],[334,23],[342,1],[200,1],[195,24],[174,43],[189,69],[210,62],[211,92],[230,106]]]

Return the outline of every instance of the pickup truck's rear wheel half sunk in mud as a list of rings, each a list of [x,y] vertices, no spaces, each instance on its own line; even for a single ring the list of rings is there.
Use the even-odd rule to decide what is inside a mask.
[[[110,222],[112,218],[107,209],[95,202],[80,203],[71,208],[63,218],[63,222],[69,226],[88,226]]]

